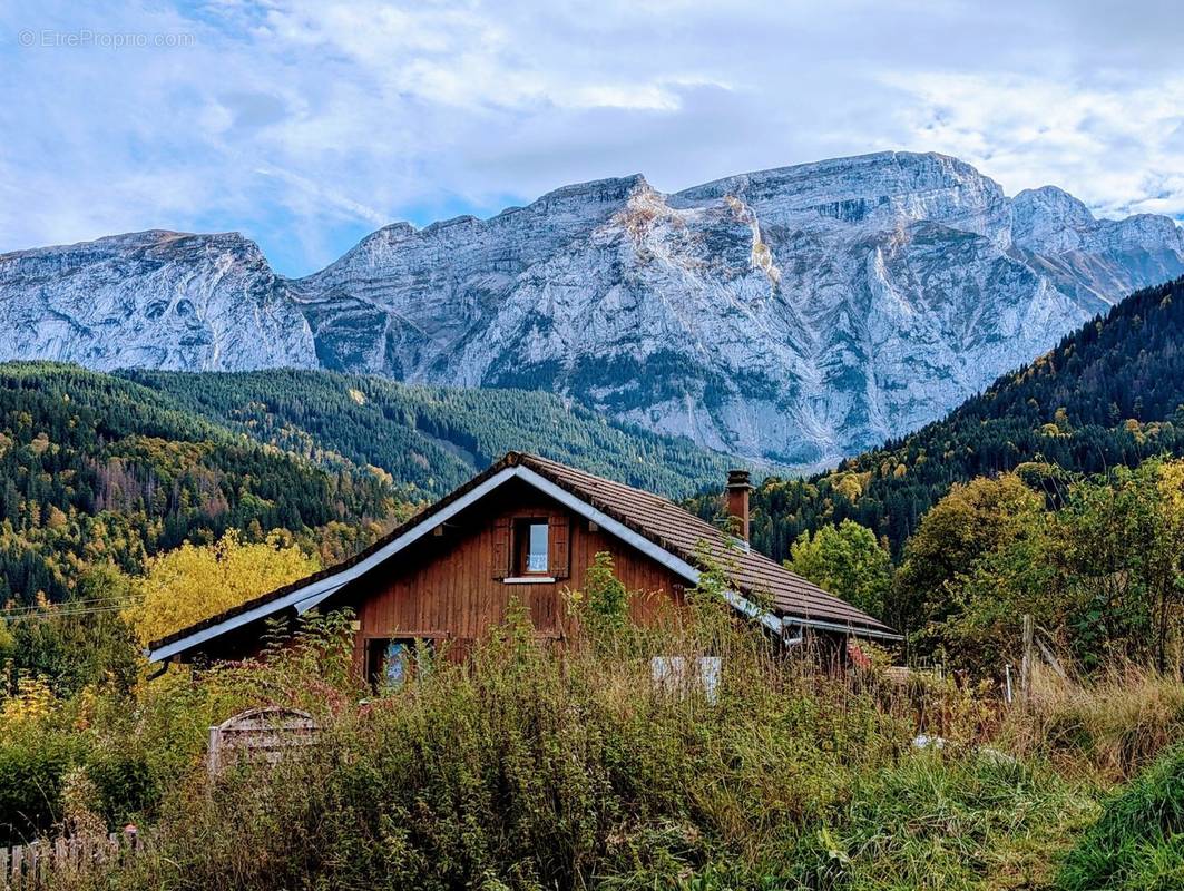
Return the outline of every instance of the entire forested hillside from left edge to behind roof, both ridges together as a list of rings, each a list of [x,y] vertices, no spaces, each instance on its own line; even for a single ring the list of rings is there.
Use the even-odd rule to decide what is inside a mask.
[[[139,572],[227,529],[287,530],[332,562],[510,448],[670,495],[728,464],[543,393],[0,364],[0,603],[60,601],[88,567]]]

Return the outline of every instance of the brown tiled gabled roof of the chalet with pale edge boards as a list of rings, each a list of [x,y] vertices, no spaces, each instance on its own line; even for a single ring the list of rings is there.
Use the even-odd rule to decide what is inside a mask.
[[[761,618],[771,628],[802,625],[867,637],[899,637],[883,622],[751,550],[747,543],[736,542],[665,498],[546,458],[509,452],[489,470],[360,554],[155,640],[148,645],[148,657],[153,661],[169,658],[287,608],[307,612],[511,479],[525,480],[574,512],[597,522],[606,532],[638,548],[691,585],[699,581],[701,549],[706,548],[735,585],[736,590],[729,598],[733,605]],[[760,615],[761,611],[749,598],[772,602],[774,615]]]

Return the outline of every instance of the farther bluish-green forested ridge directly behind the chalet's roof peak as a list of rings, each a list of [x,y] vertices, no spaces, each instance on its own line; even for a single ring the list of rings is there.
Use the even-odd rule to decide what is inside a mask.
[[[719,488],[728,458],[610,420],[551,393],[411,387],[330,372],[124,372],[187,411],[310,460],[374,465],[437,497],[510,450],[649,491]]]

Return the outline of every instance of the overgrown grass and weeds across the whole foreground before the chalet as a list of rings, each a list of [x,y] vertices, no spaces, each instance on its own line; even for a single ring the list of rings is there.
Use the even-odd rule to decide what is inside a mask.
[[[562,656],[520,615],[381,696],[355,685],[343,620],[128,700],[26,691],[0,789],[56,788],[58,832],[153,827],[130,866],[60,887],[1179,887],[1178,680],[1038,678],[1008,709],[950,678],[836,678],[726,615],[588,620]],[[652,682],[651,657],[704,653],[714,692]],[[206,728],[265,703],[311,711],[320,744],[208,780]]]

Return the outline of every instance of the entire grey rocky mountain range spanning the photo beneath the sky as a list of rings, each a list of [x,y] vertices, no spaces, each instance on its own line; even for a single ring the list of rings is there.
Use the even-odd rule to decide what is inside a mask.
[[[883,153],[663,194],[642,176],[365,238],[311,276],[238,234],[0,256],[0,359],[324,367],[525,387],[817,465],[940,417],[1127,292],[1184,273],[1170,219],[1015,198]]]

